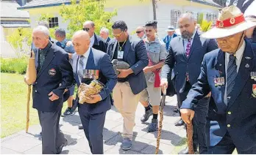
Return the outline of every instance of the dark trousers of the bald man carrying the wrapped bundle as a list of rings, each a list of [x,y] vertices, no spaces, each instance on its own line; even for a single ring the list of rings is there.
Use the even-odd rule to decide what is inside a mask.
[[[103,154],[103,127],[106,112],[90,114],[78,107],[79,116],[84,128],[92,154]]]

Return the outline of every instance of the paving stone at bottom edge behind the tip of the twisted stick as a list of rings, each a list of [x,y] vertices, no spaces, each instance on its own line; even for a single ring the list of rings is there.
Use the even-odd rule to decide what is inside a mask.
[[[157,142],[150,143],[141,151],[142,154],[155,154]],[[174,146],[160,143],[158,154],[169,154],[174,149]]]

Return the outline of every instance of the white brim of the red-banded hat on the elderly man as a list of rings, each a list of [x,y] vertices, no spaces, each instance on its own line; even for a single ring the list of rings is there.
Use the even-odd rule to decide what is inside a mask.
[[[222,29],[214,27],[213,29],[210,29],[209,31],[206,31],[204,34],[202,34],[201,37],[206,39],[217,39],[217,38],[228,37],[233,34],[237,34],[241,31],[244,31],[246,29],[252,28],[253,26],[256,26],[255,22],[246,21],[237,26],[230,26]]]

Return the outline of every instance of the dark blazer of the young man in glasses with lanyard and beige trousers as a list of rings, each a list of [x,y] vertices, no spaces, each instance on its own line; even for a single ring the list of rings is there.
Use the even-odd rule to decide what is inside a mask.
[[[111,39],[109,42],[107,54],[110,55],[111,60],[117,50],[117,44],[116,39]],[[143,40],[129,36],[124,49],[124,61],[130,65],[133,71],[131,75],[128,75],[129,85],[133,94],[139,94],[147,87],[143,72],[143,68],[149,64],[146,47]]]

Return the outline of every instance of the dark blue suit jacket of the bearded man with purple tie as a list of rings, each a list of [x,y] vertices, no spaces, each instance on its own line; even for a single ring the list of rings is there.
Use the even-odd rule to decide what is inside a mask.
[[[168,56],[161,72],[162,78],[167,78],[171,69],[174,69],[174,86],[177,93],[182,93],[186,83],[186,72],[188,72],[191,85],[196,83],[197,77],[201,72],[202,59],[205,53],[218,48],[215,39],[203,39],[196,32],[190,56],[185,56],[185,50],[182,37],[178,36],[171,40],[168,49]]]

